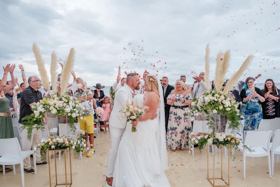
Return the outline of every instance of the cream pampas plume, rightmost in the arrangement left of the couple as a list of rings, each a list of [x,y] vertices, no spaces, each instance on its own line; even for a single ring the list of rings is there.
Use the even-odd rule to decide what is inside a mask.
[[[71,76],[71,71],[74,69],[75,53],[76,52],[74,48],[71,48],[67,59],[64,61],[60,82],[61,94],[65,94],[67,90],[68,82]]]

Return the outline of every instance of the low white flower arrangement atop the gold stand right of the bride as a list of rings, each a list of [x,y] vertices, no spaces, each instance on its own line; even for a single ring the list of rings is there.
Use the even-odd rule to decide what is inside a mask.
[[[249,145],[244,145],[238,138],[234,137],[231,134],[226,135],[224,133],[213,132],[198,133],[197,135],[195,135],[193,132],[191,132],[189,135],[189,144],[198,145],[199,150],[204,149],[205,146],[208,144],[213,144],[216,145],[218,148],[220,148],[220,145],[230,145],[231,149],[237,149],[237,147],[240,146],[244,147],[244,149],[248,149],[250,152],[255,151],[252,148],[250,148]],[[233,159],[235,158],[233,157]]]

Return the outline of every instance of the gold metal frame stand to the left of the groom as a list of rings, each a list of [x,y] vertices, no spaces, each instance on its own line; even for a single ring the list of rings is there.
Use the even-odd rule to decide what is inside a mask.
[[[52,187],[52,182],[51,182],[51,173],[50,173],[50,152],[54,151],[54,165],[55,165],[55,186],[57,185],[65,185],[66,187],[71,187],[72,186],[72,165],[71,165],[71,151],[69,151],[69,157],[70,157],[70,184],[67,183],[67,170],[66,170],[66,149],[49,149],[48,150],[48,157],[49,157],[49,187]],[[65,183],[57,183],[57,167],[56,167],[56,151],[64,151],[64,165],[65,165]],[[69,186],[68,186],[69,185]]]

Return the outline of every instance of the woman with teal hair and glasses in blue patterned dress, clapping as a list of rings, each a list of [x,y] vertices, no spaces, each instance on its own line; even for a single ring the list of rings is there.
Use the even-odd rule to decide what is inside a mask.
[[[254,78],[248,77],[245,80],[240,97],[242,104],[244,104],[240,108],[241,120],[245,119],[244,130],[255,130],[259,127],[259,122],[263,118],[261,103],[265,101],[265,98],[261,89],[254,87]],[[255,109],[248,108],[249,103],[255,106]]]

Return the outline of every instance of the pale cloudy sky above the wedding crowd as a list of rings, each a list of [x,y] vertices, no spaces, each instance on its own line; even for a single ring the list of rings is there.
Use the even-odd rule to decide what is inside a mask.
[[[53,50],[65,59],[70,48],[75,48],[76,75],[88,85],[114,84],[119,65],[123,65],[122,76],[124,71],[142,75],[148,70],[169,77],[170,84],[186,75],[191,84],[191,73],[204,70],[205,46],[209,42],[210,79],[214,78],[217,52],[231,50],[228,77],[248,55],[254,54],[253,65],[240,79],[262,74],[256,83],[267,78],[280,82],[278,3],[0,0],[0,64],[23,64],[27,76],[38,74],[31,49],[36,42],[47,70]],[[138,46],[143,49],[139,56]],[[21,77],[18,66],[15,73]]]

